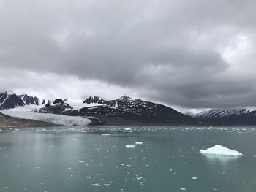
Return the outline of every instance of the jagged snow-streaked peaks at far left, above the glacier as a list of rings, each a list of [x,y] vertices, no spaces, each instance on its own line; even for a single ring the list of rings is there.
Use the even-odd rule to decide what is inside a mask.
[[[48,100],[43,100],[42,102],[48,102]],[[41,101],[35,96],[17,95],[12,91],[0,93],[0,110],[13,109],[30,104],[39,105]]]

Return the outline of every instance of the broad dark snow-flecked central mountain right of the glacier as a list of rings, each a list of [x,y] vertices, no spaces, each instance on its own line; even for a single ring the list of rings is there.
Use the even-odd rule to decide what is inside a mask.
[[[61,99],[58,103],[61,103]],[[90,96],[88,99],[83,101],[83,104],[84,103],[90,104],[90,106],[74,110],[70,109],[70,107],[63,107],[65,102],[62,102],[60,105],[47,104],[45,107],[37,110],[37,112],[50,112],[72,116],[93,116],[95,118],[99,118],[99,120],[105,121],[110,119],[133,120],[138,122],[138,124],[202,123],[195,118],[191,118],[162,104],[143,101],[141,99],[132,99],[126,95],[119,99],[108,101],[100,98],[99,96]]]

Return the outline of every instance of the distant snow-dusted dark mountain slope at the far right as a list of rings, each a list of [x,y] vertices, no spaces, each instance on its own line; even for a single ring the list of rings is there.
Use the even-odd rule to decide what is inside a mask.
[[[223,125],[256,124],[256,108],[206,110],[190,116]]]

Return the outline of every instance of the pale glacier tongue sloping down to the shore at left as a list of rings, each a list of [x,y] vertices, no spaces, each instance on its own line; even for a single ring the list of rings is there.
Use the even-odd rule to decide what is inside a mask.
[[[13,118],[40,120],[48,123],[61,125],[61,126],[88,126],[91,124],[91,120],[83,117],[56,115],[51,113],[15,111],[15,110],[3,110],[1,112],[4,115],[9,115]]]

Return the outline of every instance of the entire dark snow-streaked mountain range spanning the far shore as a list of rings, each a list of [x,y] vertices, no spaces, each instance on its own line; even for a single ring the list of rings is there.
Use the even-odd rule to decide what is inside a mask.
[[[53,102],[27,94],[17,95],[12,91],[0,93],[0,110],[35,106],[34,112],[69,116],[84,116],[95,123],[119,122],[120,124],[216,124],[256,125],[256,108],[230,110],[206,110],[184,115],[162,104],[124,95],[119,99],[105,100],[99,96],[87,99],[56,99]]]

